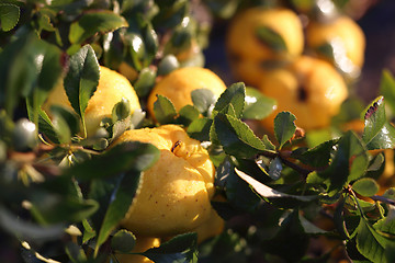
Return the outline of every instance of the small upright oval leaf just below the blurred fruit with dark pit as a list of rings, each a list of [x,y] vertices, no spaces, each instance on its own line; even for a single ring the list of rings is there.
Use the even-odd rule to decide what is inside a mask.
[[[295,134],[295,115],[290,112],[281,112],[274,118],[274,135],[279,141],[279,148],[289,141],[292,136]]]

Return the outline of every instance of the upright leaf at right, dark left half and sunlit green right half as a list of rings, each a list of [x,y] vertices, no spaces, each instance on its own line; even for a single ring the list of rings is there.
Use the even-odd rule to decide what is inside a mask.
[[[325,184],[330,196],[351,181],[365,174],[369,157],[363,142],[352,132],[347,132],[338,141],[330,165],[307,176],[307,183]]]

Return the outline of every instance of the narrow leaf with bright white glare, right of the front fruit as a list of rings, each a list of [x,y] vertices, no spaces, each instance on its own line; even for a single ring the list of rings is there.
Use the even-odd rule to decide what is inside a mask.
[[[282,193],[280,191],[273,190],[259,181],[255,180],[250,175],[246,174],[242,171],[239,171],[238,169],[235,169],[237,175],[241,178],[244,181],[246,181],[248,184],[251,185],[251,187],[262,197],[264,198],[291,198],[302,202],[311,202],[317,198],[317,196],[308,196],[308,195],[290,195],[286,193]]]

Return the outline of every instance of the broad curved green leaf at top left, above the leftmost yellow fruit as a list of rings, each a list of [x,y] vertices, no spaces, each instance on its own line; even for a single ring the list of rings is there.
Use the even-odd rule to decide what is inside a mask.
[[[71,24],[69,41],[71,44],[80,44],[97,33],[106,33],[127,25],[123,16],[110,10],[87,12]]]

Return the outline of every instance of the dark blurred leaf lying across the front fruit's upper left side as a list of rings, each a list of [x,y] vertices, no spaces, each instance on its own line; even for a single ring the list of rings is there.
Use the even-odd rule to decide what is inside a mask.
[[[102,155],[77,163],[64,171],[80,181],[110,178],[125,171],[144,171],[159,159],[159,150],[150,144],[128,141],[113,146]],[[111,163],[111,165],[109,165]]]

